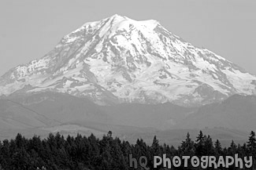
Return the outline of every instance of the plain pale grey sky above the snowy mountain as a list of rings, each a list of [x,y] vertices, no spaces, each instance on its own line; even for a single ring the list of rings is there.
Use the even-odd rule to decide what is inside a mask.
[[[115,13],[158,20],[256,74],[255,0],[0,0],[0,74],[44,56],[82,24]]]

